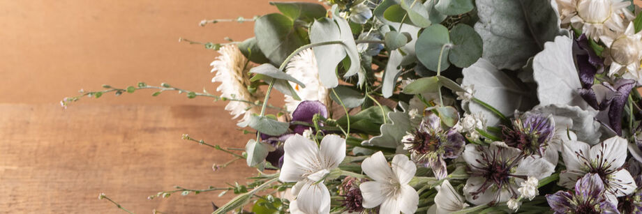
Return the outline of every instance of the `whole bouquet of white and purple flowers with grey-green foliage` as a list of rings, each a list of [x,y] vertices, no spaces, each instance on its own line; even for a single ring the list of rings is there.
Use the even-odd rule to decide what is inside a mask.
[[[205,44],[220,95],[141,82],[62,105],[141,89],[229,102],[245,151],[208,145],[259,172],[214,213],[642,213],[632,2],[271,5],[238,19],[255,37]]]

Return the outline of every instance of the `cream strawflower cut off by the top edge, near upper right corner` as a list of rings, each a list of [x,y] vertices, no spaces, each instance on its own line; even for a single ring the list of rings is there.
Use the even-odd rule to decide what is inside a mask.
[[[562,24],[571,24],[592,40],[612,32],[622,32],[625,22],[634,15],[627,10],[629,1],[622,0],[555,0]]]

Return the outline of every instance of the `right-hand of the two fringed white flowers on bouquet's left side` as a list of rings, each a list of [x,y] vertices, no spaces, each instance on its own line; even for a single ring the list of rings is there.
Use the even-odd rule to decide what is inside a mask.
[[[294,100],[292,96],[285,95],[285,107],[288,112],[293,112],[294,109],[297,109],[299,103],[304,100],[318,100],[323,105],[329,106],[330,96],[328,89],[321,84],[317,59],[312,49],[304,49],[297,56],[292,57],[292,60],[285,68],[285,73],[306,84],[306,87],[303,88],[299,84],[290,82],[301,100]]]

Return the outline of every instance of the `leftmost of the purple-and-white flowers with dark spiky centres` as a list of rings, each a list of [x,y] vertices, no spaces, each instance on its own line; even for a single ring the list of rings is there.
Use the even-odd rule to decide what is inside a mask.
[[[401,142],[412,161],[431,167],[439,179],[447,175],[445,159],[459,157],[465,144],[454,128],[444,129],[439,116],[429,112],[415,132],[408,132]]]

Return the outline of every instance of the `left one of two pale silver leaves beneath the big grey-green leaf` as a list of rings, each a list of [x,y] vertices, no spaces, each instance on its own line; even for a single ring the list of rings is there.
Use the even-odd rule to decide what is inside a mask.
[[[530,109],[533,101],[530,93],[521,89],[520,82],[512,79],[498,70],[490,61],[479,59],[475,64],[464,68],[462,86],[475,89],[474,97],[486,102],[505,116],[512,116],[515,110]],[[464,108],[465,109],[465,108]],[[487,125],[500,124],[500,118],[486,107],[476,102],[468,103],[468,113],[481,112],[487,120]]]

